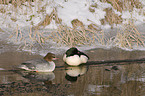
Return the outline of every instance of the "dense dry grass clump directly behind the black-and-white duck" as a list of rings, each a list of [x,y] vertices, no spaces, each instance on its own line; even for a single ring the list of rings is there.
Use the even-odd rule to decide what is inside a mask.
[[[50,36],[55,42],[67,46],[76,45],[91,45],[98,41],[104,44],[104,33],[102,31],[95,31],[85,27],[71,28],[60,25],[57,31],[52,32]]]

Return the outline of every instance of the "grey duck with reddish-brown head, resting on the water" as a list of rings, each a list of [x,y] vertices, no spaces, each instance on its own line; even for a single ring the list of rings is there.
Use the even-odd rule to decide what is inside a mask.
[[[35,72],[52,72],[55,69],[53,60],[57,60],[53,53],[47,53],[43,59],[32,59],[21,63],[18,68]]]

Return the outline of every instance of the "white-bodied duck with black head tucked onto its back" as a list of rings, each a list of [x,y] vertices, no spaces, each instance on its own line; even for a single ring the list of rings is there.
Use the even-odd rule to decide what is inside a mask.
[[[85,53],[79,51],[76,47],[68,49],[63,56],[63,61],[70,66],[79,66],[87,63],[88,60],[89,57]]]

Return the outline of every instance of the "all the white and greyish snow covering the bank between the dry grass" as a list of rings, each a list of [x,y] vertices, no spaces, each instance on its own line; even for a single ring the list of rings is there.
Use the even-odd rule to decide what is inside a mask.
[[[104,19],[106,16],[106,12],[104,11],[105,8],[112,8],[116,14],[122,15],[121,17],[123,18],[123,23],[132,18],[134,19],[135,24],[140,26],[145,23],[145,0],[140,1],[143,4],[142,11],[141,9],[134,8],[132,12],[123,11],[122,13],[113,9],[111,4],[100,2],[100,0],[36,0],[36,2],[31,3],[31,7],[29,7],[29,3],[25,2],[21,6],[17,6],[17,8],[11,4],[1,4],[0,40],[17,44],[19,47],[21,47],[22,43],[26,43],[25,45],[27,45],[28,42],[32,42],[33,46],[35,46],[32,49],[32,52],[34,53],[38,51],[40,54],[46,53],[46,51],[58,53],[62,50],[66,50],[68,47],[58,46],[57,43],[52,41],[47,41],[45,44],[43,44],[43,46],[40,46],[29,38],[30,27],[37,26],[45,19],[47,14],[51,14],[54,8],[57,11],[58,18],[62,19],[62,24],[64,25],[72,27],[71,21],[78,19],[86,26],[91,23],[95,23],[101,29],[108,32],[111,26],[109,24],[101,25],[100,22],[100,20]],[[94,12],[89,11],[89,7],[92,4],[97,4],[97,8],[94,8]],[[58,25],[56,24],[55,20],[52,20],[49,25],[42,27],[39,31],[42,33],[47,33],[48,35],[49,32],[57,29],[57,26]],[[114,24],[114,27],[117,26]],[[144,30],[144,27],[141,29]],[[23,35],[23,41],[16,41],[16,39],[21,39],[21,36],[20,38],[16,38],[16,36],[9,38],[9,36],[16,32],[16,30],[19,30],[22,33],[18,35]],[[108,45],[97,45],[97,47],[107,48]],[[97,47],[96,45],[92,45],[82,46],[79,48],[81,50],[88,50]],[[134,49],[145,50],[144,47],[134,47]],[[29,48],[25,48],[24,50],[28,51]]]

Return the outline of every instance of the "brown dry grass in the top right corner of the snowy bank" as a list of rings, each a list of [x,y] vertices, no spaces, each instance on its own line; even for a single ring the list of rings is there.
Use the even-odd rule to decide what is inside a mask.
[[[122,13],[123,11],[132,12],[134,8],[140,9],[139,14],[144,15],[143,5],[140,0],[100,0],[104,3],[109,3],[113,8],[106,8],[106,16],[101,20],[101,24],[109,24],[113,28],[113,24],[121,24],[122,15],[115,14],[114,9]]]

